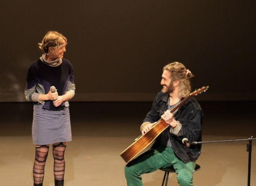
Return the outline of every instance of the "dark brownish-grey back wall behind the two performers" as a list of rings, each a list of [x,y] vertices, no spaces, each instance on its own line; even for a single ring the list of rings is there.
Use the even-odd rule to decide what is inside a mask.
[[[49,30],[68,40],[75,101],[150,101],[162,67],[194,74],[198,100],[256,100],[255,0],[1,1],[0,101],[25,101],[27,68]]]

